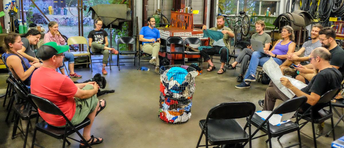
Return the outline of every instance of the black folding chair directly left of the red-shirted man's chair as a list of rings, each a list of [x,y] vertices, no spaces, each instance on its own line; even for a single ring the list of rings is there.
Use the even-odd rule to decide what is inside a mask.
[[[37,111],[32,108],[32,105],[26,99],[27,98],[26,96],[28,95],[28,93],[26,91],[24,91],[20,85],[13,82],[11,79],[9,80],[9,82],[11,83],[13,88],[15,89],[15,92],[16,92],[15,95],[18,96],[18,98],[25,100],[25,102],[23,102],[23,103],[18,103],[16,105],[14,105],[14,111],[15,111],[15,115],[14,115],[15,117],[14,118],[15,119],[14,119],[13,132],[12,132],[12,139],[14,139],[15,135],[17,135],[17,129],[20,130],[20,132],[25,137],[24,138],[24,148],[25,148],[26,147],[26,141],[28,140],[29,126],[31,123],[30,119],[37,117]],[[24,133],[23,129],[21,129],[18,126],[19,119],[27,120],[25,133]]]

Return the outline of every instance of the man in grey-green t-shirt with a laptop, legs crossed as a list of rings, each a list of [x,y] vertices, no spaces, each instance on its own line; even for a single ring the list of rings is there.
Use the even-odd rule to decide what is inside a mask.
[[[261,42],[260,45],[262,47],[262,50],[269,50],[269,47],[271,45],[271,38],[269,34],[264,32],[265,30],[264,21],[262,20],[256,21],[255,26],[256,26],[257,33],[251,36],[251,43],[252,43],[252,40],[259,41]],[[258,49],[256,49],[255,47],[252,47],[250,44],[247,44],[247,48],[245,48],[243,51],[240,52],[235,62],[225,66],[227,70],[234,70],[235,66],[238,63],[241,63],[240,74],[237,77],[237,82],[243,82],[243,79],[244,79],[243,75],[245,74],[248,61],[250,61],[252,53],[255,50],[258,50]]]

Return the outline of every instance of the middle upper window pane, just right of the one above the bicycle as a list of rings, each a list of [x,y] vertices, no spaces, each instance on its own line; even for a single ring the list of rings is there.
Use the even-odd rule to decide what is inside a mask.
[[[239,0],[239,12],[245,11],[246,14],[252,15],[253,12],[259,14],[259,1]]]

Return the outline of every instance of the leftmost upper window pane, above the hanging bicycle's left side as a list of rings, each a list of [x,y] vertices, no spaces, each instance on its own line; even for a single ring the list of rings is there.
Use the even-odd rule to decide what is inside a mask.
[[[219,14],[236,14],[237,0],[219,0],[218,13]]]

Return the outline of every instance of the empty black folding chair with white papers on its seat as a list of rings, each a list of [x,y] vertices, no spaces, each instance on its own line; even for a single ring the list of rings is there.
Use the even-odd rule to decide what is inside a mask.
[[[269,138],[265,142],[269,141],[269,147],[272,148],[272,145],[271,145],[271,138],[272,137],[278,137],[278,139],[279,139],[280,136],[282,136],[284,134],[288,134],[288,133],[291,133],[293,131],[297,131],[299,142],[297,144],[293,144],[293,145],[288,146],[286,148],[297,146],[297,145],[299,145],[299,147],[301,148],[301,137],[300,137],[300,128],[299,128],[298,116],[296,116],[296,123],[289,121],[289,122],[281,124],[279,126],[271,125],[269,123],[269,119],[273,114],[286,114],[286,113],[295,112],[306,102],[307,102],[307,97],[305,97],[305,96],[289,99],[288,101],[283,102],[281,105],[279,105],[277,108],[275,108],[265,120],[263,120],[257,114],[254,114],[252,119],[251,119],[251,123],[252,123],[252,125],[257,127],[257,130],[252,134],[252,137],[253,137],[252,140],[268,135]],[[247,118],[247,120],[249,120],[249,118]],[[263,131],[265,134],[254,137],[254,135],[256,135],[259,130]]]

